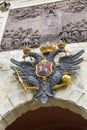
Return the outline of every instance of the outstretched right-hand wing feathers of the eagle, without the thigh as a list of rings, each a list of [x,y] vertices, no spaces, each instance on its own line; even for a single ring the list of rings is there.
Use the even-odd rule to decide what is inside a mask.
[[[67,72],[69,75],[74,75],[77,73],[77,70],[80,68],[78,64],[83,61],[83,58],[80,56],[84,53],[84,50],[79,51],[75,55],[69,55],[59,58],[59,70],[61,75]]]

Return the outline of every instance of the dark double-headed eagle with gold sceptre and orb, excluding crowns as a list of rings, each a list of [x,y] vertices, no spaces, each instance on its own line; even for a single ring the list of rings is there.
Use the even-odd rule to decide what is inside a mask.
[[[34,63],[11,59],[11,62],[16,65],[11,66],[11,69],[15,71],[15,76],[23,89],[34,92],[34,100],[47,103],[48,98],[53,99],[55,90],[70,85],[73,75],[80,68],[79,64],[83,61],[80,56],[84,50],[74,55],[60,57],[57,65],[54,58],[62,51],[62,48],[58,48],[50,52],[47,57],[35,52],[27,52],[25,57],[33,57]]]

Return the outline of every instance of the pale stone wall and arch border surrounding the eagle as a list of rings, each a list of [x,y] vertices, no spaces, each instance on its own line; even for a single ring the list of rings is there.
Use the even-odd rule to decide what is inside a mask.
[[[38,0],[36,1],[20,0],[19,2],[14,0],[11,8],[38,3]],[[47,0],[44,2],[47,2]],[[9,11],[0,12],[0,41],[8,13]],[[82,55],[84,61],[81,63],[81,68],[72,84],[67,88],[59,89],[55,94],[55,100],[49,101],[45,105],[32,101],[33,93],[31,91],[25,92],[21,88],[10,69],[10,58],[22,60],[22,51],[15,50],[0,53],[0,130],[4,130],[23,113],[46,106],[67,108],[87,119],[87,42],[68,44],[66,48],[68,54],[74,54],[84,49],[85,53]],[[39,53],[38,49],[33,51]]]

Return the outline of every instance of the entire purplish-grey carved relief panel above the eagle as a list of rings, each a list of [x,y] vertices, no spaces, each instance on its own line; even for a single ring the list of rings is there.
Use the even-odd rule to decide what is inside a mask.
[[[47,41],[87,41],[87,1],[66,0],[11,9],[0,51],[39,47]]]

